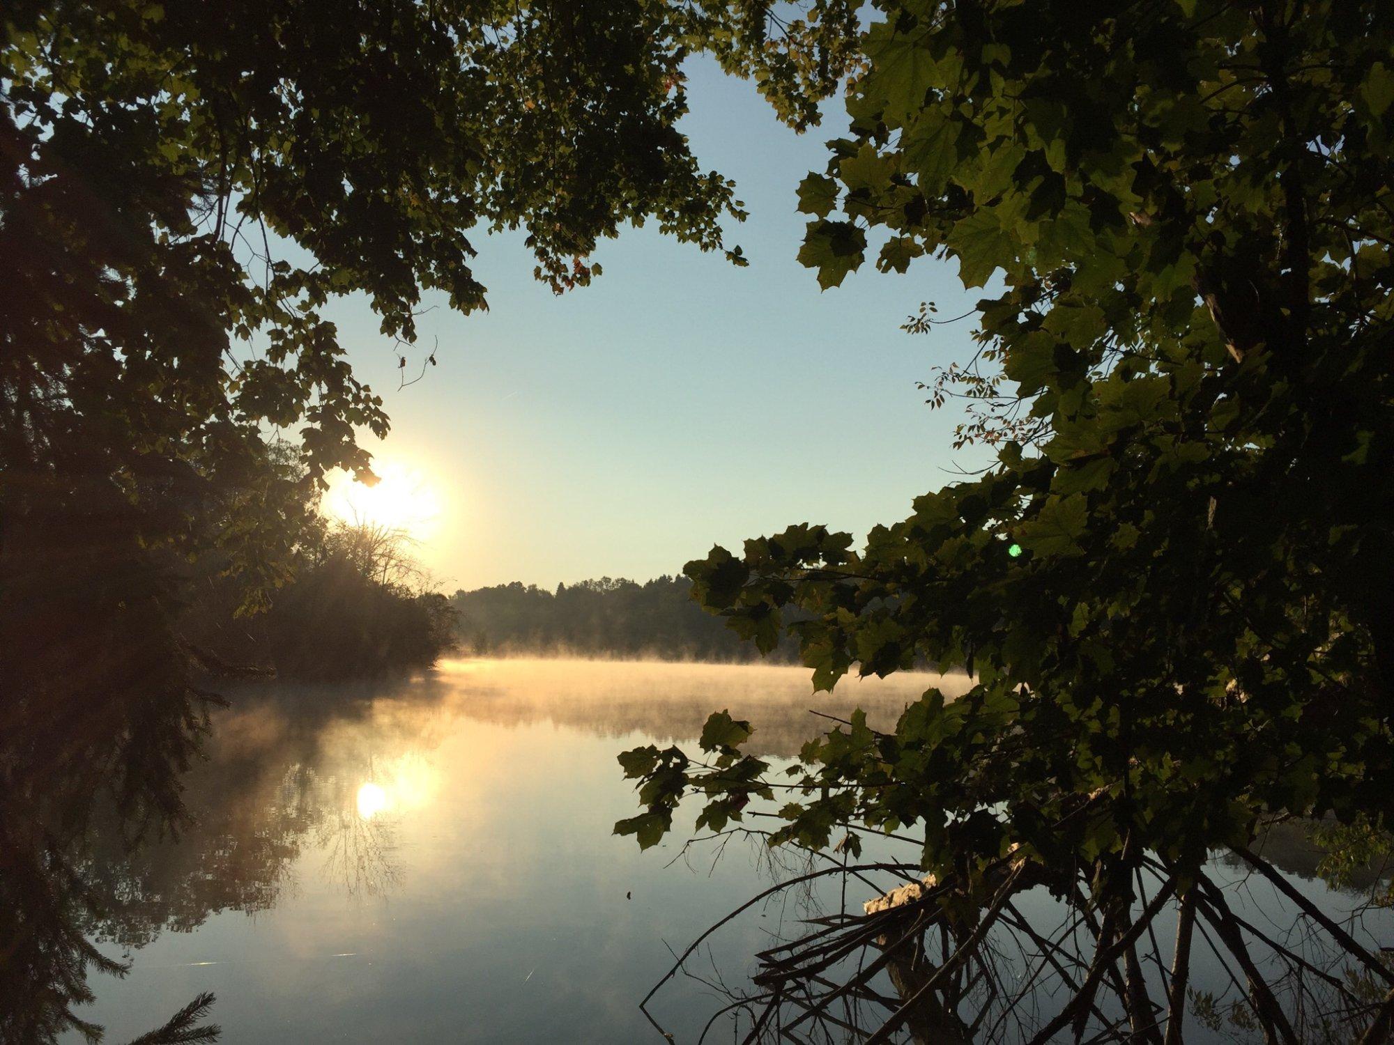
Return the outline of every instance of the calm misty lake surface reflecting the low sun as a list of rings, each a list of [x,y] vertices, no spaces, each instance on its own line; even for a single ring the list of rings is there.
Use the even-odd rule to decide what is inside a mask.
[[[213,991],[224,1042],[662,1041],[638,1002],[673,950],[800,864],[771,865],[743,839],[719,858],[715,843],[684,851],[694,811],[640,853],[611,833],[637,811],[616,754],[694,747],[729,708],[754,723],[751,751],[788,759],[829,725],[810,709],[860,705],[891,726],[928,686],[952,697],[967,680],[848,680],[815,697],[802,667],[510,659],[238,688],[188,775],[195,825],[130,860],[93,856],[123,897],[99,945],[131,971],[93,973],[78,1013],[120,1042]],[[753,908],[650,1010],[696,1041],[757,950],[868,896],[824,888]]]

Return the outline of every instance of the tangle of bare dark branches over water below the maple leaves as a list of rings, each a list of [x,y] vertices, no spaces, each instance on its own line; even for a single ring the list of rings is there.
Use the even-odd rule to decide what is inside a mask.
[[[693,865],[697,843],[719,858],[733,837],[763,835],[694,839],[677,858]],[[662,1031],[647,1005],[680,971],[725,999],[703,1037],[725,1021],[746,1042],[1174,1045],[1188,1020],[1234,1041],[1386,1041],[1394,971],[1359,939],[1374,934],[1354,913],[1344,922],[1324,913],[1257,854],[1230,856],[1246,875],[1224,881],[1213,862],[1182,878],[1143,854],[1131,901],[1118,907],[1087,893],[1098,868],[1054,872],[1008,854],[967,885],[806,850],[764,864],[774,885],[675,956],[644,1013]],[[871,897],[859,913],[846,910],[849,885]],[[799,931],[771,934],[749,984],[733,988],[715,970],[710,936],[786,897]],[[820,900],[832,913],[817,914]],[[704,946],[711,973],[693,968]]]

